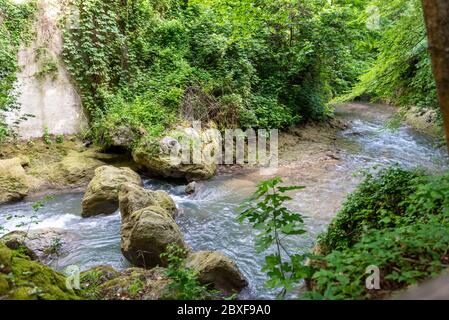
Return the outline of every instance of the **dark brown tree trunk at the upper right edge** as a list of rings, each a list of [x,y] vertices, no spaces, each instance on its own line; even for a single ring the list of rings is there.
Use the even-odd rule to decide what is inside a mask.
[[[449,151],[449,1],[423,0],[423,7]]]

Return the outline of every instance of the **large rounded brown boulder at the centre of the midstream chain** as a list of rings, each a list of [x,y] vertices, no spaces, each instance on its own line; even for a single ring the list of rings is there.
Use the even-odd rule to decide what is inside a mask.
[[[166,266],[160,255],[166,252],[169,244],[187,248],[172,214],[162,207],[150,206],[122,220],[122,253],[134,265]]]

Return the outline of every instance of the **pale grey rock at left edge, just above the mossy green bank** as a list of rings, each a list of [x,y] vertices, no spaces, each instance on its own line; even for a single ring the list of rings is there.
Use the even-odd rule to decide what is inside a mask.
[[[43,229],[13,231],[0,238],[0,243],[11,250],[20,250],[31,260],[50,265],[70,250],[71,237],[64,230]]]

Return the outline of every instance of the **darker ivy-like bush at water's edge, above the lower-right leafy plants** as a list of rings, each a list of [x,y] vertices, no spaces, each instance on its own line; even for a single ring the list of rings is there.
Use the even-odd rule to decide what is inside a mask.
[[[323,252],[344,249],[355,244],[365,230],[385,229],[406,223],[407,199],[425,180],[418,171],[399,166],[365,173],[357,189],[349,195],[342,209],[319,239]],[[419,214],[416,212],[416,214]]]

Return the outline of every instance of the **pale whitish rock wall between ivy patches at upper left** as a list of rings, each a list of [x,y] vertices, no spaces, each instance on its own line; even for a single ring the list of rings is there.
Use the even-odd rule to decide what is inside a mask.
[[[26,0],[14,0],[23,3]],[[50,134],[75,134],[87,125],[81,100],[61,59],[58,28],[64,0],[39,0],[33,41],[18,54],[17,96],[20,109],[7,114],[9,125],[23,139]],[[27,120],[16,121],[23,116]]]

